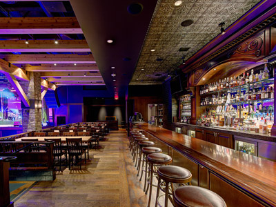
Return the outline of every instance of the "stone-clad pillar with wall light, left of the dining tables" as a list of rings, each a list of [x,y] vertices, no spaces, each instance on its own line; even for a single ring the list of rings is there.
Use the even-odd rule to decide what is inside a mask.
[[[30,108],[22,109],[23,132],[41,130],[40,72],[30,72],[30,81],[21,81],[21,87],[30,100]]]

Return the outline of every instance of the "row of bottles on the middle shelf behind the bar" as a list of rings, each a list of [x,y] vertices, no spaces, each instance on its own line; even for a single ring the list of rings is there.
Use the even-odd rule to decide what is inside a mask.
[[[210,106],[225,103],[237,103],[239,101],[257,101],[262,99],[274,99],[273,86],[262,87],[262,90],[246,90],[245,92],[237,92],[235,94],[213,95],[212,97],[201,98],[200,106]]]

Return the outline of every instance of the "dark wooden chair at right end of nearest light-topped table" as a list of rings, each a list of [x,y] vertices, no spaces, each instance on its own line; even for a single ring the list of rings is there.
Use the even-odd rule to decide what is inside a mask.
[[[66,138],[67,148],[68,148],[68,155],[69,155],[69,170],[71,163],[73,164],[73,157],[75,156],[76,163],[81,159],[81,155],[84,152],[85,161],[86,161],[86,153],[83,150],[82,146],[82,138]],[[82,161],[82,160],[81,160]],[[80,165],[81,170],[81,165]]]

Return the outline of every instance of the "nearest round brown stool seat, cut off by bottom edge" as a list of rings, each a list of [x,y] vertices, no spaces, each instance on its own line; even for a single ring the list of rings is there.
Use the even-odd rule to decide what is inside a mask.
[[[177,207],[226,207],[224,199],[217,193],[197,186],[181,186],[173,193],[175,206]]]

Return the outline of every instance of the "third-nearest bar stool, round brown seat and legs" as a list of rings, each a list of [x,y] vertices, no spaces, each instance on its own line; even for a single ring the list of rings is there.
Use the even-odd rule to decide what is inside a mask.
[[[153,170],[154,166],[164,166],[168,165],[172,162],[172,157],[169,155],[165,155],[162,153],[152,153],[148,155],[148,164],[150,166],[150,175],[148,176],[148,186],[146,189],[146,194],[148,193],[148,187],[150,186],[150,195],[148,197],[148,207],[150,207],[150,200],[151,200],[151,194],[152,194],[152,180],[153,180],[153,173],[156,173],[156,171]],[[157,187],[157,186],[156,186]]]

